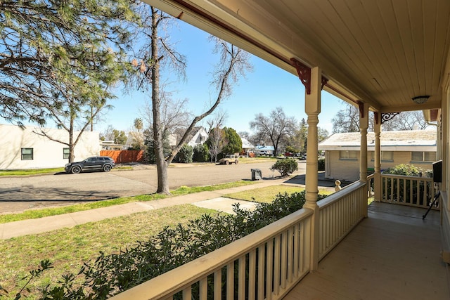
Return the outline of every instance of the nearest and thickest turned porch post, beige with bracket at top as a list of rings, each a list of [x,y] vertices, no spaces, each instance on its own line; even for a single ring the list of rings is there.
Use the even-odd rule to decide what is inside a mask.
[[[319,67],[311,69],[311,90],[305,93],[305,112],[308,115],[308,138],[307,138],[307,170],[305,182],[305,204],[304,208],[314,211],[311,223],[311,260],[310,270],[317,270],[319,266],[319,207],[317,206],[317,195],[319,194],[319,164],[317,160],[318,143],[317,124],[321,112],[321,70]]]

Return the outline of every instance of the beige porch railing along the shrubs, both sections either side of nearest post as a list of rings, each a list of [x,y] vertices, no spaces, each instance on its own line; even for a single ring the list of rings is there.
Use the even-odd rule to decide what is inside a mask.
[[[365,183],[319,204],[319,259],[366,216]],[[310,271],[311,209],[285,218],[111,299],[282,299]]]

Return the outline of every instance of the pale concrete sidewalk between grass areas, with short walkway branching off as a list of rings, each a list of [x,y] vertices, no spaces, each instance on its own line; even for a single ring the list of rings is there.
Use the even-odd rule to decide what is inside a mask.
[[[291,181],[291,183],[289,183]],[[212,192],[200,192],[189,195],[170,197],[162,200],[154,200],[149,202],[131,202],[127,204],[114,205],[111,207],[103,207],[99,209],[90,209],[87,211],[77,211],[70,214],[62,214],[58,216],[47,216],[40,219],[30,219],[25,221],[15,221],[0,224],[0,239],[6,240],[11,237],[19,237],[22,235],[32,235],[36,233],[44,233],[59,228],[70,228],[83,223],[96,222],[104,219],[115,218],[117,216],[126,216],[140,211],[148,211],[152,209],[160,209],[162,207],[170,207],[180,204],[195,204],[199,207],[216,209],[218,211],[231,212],[231,205],[241,202],[241,207],[254,207],[252,202],[242,202],[239,200],[229,200],[221,197],[226,194],[236,193],[243,190],[252,190],[255,188],[263,188],[270,185],[297,185],[302,184],[292,182],[293,178],[264,179],[259,183],[252,185],[243,185],[236,188],[228,188],[225,190],[214,190]]]

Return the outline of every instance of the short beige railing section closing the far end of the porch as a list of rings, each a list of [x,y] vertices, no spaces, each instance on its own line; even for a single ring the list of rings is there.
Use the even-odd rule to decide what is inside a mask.
[[[432,178],[382,173],[380,195],[381,202],[428,208],[435,188]]]

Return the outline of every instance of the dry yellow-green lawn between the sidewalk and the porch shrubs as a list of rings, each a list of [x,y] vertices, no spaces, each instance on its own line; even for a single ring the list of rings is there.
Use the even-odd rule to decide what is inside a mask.
[[[147,240],[165,226],[188,223],[203,214],[217,214],[217,211],[184,204],[0,240],[0,285],[13,299],[15,288],[25,282],[22,278],[43,259],[52,261],[54,268],[46,270],[30,288],[54,283],[66,273],[76,274],[84,261],[95,259],[99,252],[117,253],[138,240]]]

